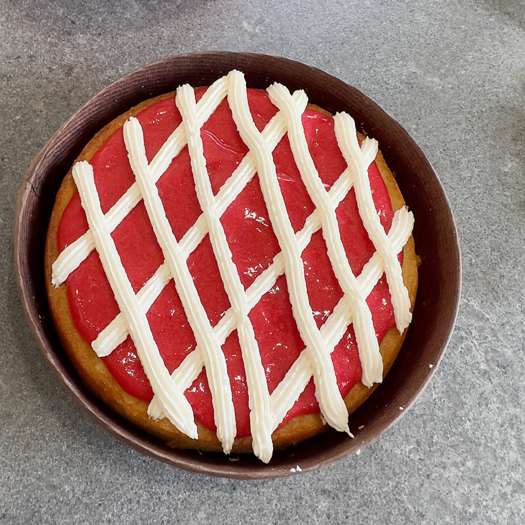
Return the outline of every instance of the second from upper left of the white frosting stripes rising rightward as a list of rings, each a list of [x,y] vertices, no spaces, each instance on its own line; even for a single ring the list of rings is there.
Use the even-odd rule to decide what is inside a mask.
[[[307,98],[306,95],[304,95],[304,92],[296,91],[293,94],[293,100],[295,100],[295,102],[299,104],[300,107],[306,108]],[[202,99],[199,102],[201,101]],[[197,107],[199,102],[197,102]],[[282,116],[280,115],[280,113],[277,113],[268,122],[264,131],[262,132],[262,135],[267,141],[268,147],[273,150],[277,146],[285,132],[286,129],[282,120]],[[153,165],[153,161],[151,165]],[[162,169],[162,166],[156,166],[156,170],[160,171]],[[152,167],[150,169],[153,170]],[[228,180],[220,187],[220,190],[217,193],[217,213],[220,216],[223,215],[223,213],[226,211],[226,208],[230,204],[232,204],[233,201],[235,201],[240,192],[243,191],[245,186],[251,181],[251,179],[255,175],[255,172],[256,166],[253,155],[251,155],[251,153],[248,152],[244,156],[240,164],[237,166],[232,176],[230,176]],[[158,173],[155,172],[153,174],[153,177],[156,177],[157,175]],[[201,241],[204,239],[207,233],[208,230],[206,219],[204,217],[204,214],[201,214],[199,215],[195,224],[187,230],[187,232],[184,234],[179,243],[186,259],[190,257],[190,255],[193,253],[193,251],[199,245],[199,243],[201,243]],[[78,264],[80,264],[80,262],[78,262]],[[164,262],[158,268],[158,270],[156,270],[155,274],[148,280],[148,282],[146,282],[145,285],[139,290],[138,297],[141,304],[143,305],[144,311],[147,312],[151,308],[151,305],[153,304],[155,299],[159,297],[161,291],[164,289],[164,287],[167,285],[170,279],[170,270]],[[127,326],[123,320],[122,314],[119,313],[108,324],[108,326],[99,333],[97,339],[95,339],[95,341],[93,341],[92,343],[92,348],[93,350],[95,350],[99,357],[104,357],[109,355],[127,337]]]

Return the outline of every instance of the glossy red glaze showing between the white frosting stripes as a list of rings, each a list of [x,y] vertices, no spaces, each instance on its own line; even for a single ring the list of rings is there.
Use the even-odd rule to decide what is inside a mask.
[[[197,99],[203,92],[203,90],[197,92]],[[265,92],[249,90],[248,98],[256,125],[262,130],[275,114],[276,108]],[[181,122],[181,117],[174,99],[170,98],[153,104],[142,111],[138,118],[144,129],[146,154],[151,161],[160,146]],[[333,122],[319,112],[307,110],[303,114],[303,125],[312,158],[328,189],[345,168],[335,141]],[[201,135],[209,176],[216,194],[247,153],[246,145],[239,137],[226,101],[220,104],[206,122]],[[302,228],[314,206],[301,182],[286,137],[275,149],[274,161],[292,226],[297,231]],[[107,212],[134,182],[122,129],[116,131],[93,156],[91,164],[102,209]],[[392,221],[392,208],[375,164],[370,166],[369,176],[381,223],[385,229],[388,229]],[[169,169],[160,178],[158,187],[166,215],[177,240],[180,240],[201,213],[187,148],[173,160]],[[338,207],[337,215],[346,254],[352,270],[357,275],[374,253],[374,247],[359,217],[353,190]],[[270,265],[279,251],[257,177],[253,178],[237,200],[228,207],[221,220],[241,281],[245,287],[248,287]],[[80,205],[79,195],[75,193],[60,222],[59,250],[72,243],[86,229],[86,217]],[[138,291],[163,262],[162,251],[155,239],[143,203],[135,207],[114,230],[112,236],[132,286]],[[313,235],[310,244],[303,252],[303,258],[312,311],[317,324],[321,326],[342,296],[333,275],[321,232]],[[188,267],[194,276],[195,285],[209,320],[215,325],[228,309],[229,302],[208,237],[205,237],[190,256]],[[88,342],[93,341],[118,313],[117,304],[95,251],[69,276],[67,294],[74,322],[82,337]],[[372,309],[377,337],[381,341],[394,324],[390,295],[384,276],[375,286],[367,302]],[[154,302],[148,312],[148,320],[161,355],[171,372],[195,346],[193,333],[173,281],[164,288]],[[304,348],[291,314],[284,276],[277,280],[275,286],[250,312],[250,320],[254,325],[271,392]],[[223,351],[233,388],[237,435],[246,436],[249,435],[247,388],[235,331],[226,340]],[[340,391],[346,395],[361,379],[361,364],[352,327],[334,350],[332,360]],[[104,363],[125,391],[144,401],[151,400],[153,395],[151,386],[130,337],[111,355],[104,358]],[[193,406],[195,417],[204,425],[214,429],[211,395],[204,370],[188,389],[186,397]],[[286,419],[317,410],[313,381],[310,381]]]

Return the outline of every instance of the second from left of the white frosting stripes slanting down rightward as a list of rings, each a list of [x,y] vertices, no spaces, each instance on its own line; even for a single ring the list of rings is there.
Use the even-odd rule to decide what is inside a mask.
[[[217,437],[225,453],[232,449],[236,435],[235,410],[232,389],[229,385],[226,359],[220,343],[209,323],[201,298],[195,288],[192,275],[186,264],[186,258],[178,245],[175,235],[167,220],[164,206],[146,158],[142,127],[134,117],[124,124],[124,142],[128,150],[131,169],[137,177],[137,183],[144,200],[144,205],[155,236],[162,248],[165,261],[175,281],[178,296],[193,330],[195,340],[201,348],[206,375],[212,393]]]

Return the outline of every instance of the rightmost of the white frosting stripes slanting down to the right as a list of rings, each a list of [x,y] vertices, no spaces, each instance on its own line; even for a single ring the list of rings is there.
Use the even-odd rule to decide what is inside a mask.
[[[354,189],[358,203],[359,214],[366,232],[374,247],[384,260],[386,281],[392,298],[397,330],[403,330],[410,324],[412,313],[410,299],[401,272],[401,265],[397,259],[397,252],[392,248],[381,221],[377,215],[367,168],[362,162],[361,150],[356,137],[355,123],[346,113],[337,113],[334,116],[335,137],[346,163],[355,173]]]

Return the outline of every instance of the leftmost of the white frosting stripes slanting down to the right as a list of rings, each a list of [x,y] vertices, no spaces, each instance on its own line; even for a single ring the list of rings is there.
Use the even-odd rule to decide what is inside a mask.
[[[193,420],[192,407],[171,380],[153,339],[148,319],[146,319],[140,307],[122,266],[117,248],[100,207],[91,165],[86,161],[75,164],[73,167],[73,178],[80,194],[82,207],[86,212],[89,228],[92,232],[102,267],[104,272],[106,272],[120,311],[128,323],[131,338],[135,343],[137,354],[151,383],[153,392],[160,398],[170,421],[181,432],[197,438],[197,427]]]

